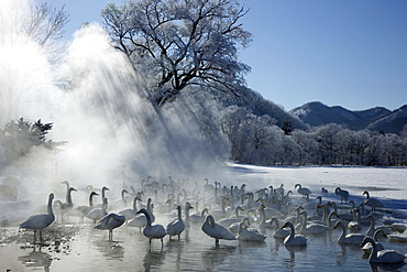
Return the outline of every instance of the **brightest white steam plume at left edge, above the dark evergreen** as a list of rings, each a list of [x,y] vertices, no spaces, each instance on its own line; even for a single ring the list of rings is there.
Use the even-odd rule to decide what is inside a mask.
[[[43,48],[26,35],[26,1],[0,2],[0,123],[30,116],[48,119],[57,98]]]

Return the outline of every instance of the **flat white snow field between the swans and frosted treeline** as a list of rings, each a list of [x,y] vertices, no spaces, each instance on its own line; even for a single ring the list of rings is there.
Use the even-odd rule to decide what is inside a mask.
[[[320,194],[321,187],[334,193],[337,187],[352,195],[363,196],[369,191],[373,197],[407,199],[407,167],[351,167],[351,166],[255,166],[230,163],[232,173],[248,189],[261,186],[292,189],[301,184]]]

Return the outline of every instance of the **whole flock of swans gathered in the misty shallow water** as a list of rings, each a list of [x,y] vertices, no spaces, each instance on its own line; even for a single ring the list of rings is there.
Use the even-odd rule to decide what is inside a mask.
[[[46,228],[78,220],[77,224],[92,225],[96,230],[108,230],[109,241],[113,239],[114,229],[140,230],[150,247],[153,240],[160,240],[162,249],[165,237],[168,241],[173,237],[180,240],[185,233],[187,236],[187,230],[194,228],[213,239],[216,247],[222,241],[262,243],[266,239],[282,241],[287,248],[307,247],[314,236],[331,231],[338,237],[337,244],[360,246],[361,252],[369,253],[371,263],[406,260],[406,252],[385,249],[377,242],[378,233],[391,235],[392,227],[383,224],[381,210],[385,205],[371,197],[367,191],[363,193],[366,198],[358,200],[340,187],[331,188],[330,194],[326,186],[319,191],[322,196],[318,196],[301,184],[295,184],[293,191],[297,193],[294,194],[293,191],[285,192],[283,184],[277,189],[270,186],[249,191],[250,184],[222,187],[219,182],[209,183],[208,178],[194,183],[188,178],[175,182],[168,177],[169,182],[161,183],[152,179],[148,176],[139,187],[134,184],[121,188],[118,191],[121,192],[120,197],[116,198],[113,189],[107,186],[100,191],[95,187],[80,189],[65,181],[65,200],[54,200],[55,194],[50,193],[47,213],[30,216],[20,224],[20,228],[33,230],[35,243],[37,232],[43,241]],[[79,193],[85,195],[88,204],[79,203],[75,197]],[[323,202],[328,196],[330,200]],[[349,199],[353,199],[352,203]],[[341,213],[352,218],[351,221],[341,218]],[[268,229],[272,229],[270,235]]]

